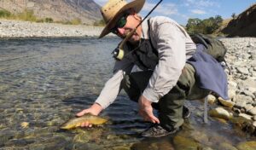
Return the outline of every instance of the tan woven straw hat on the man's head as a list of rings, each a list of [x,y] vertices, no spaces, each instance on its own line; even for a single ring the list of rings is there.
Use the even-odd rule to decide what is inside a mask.
[[[135,12],[138,13],[143,9],[144,3],[145,0],[134,0],[131,3],[127,3],[125,0],[109,0],[101,9],[106,26],[102,30],[99,38],[106,36],[110,32],[125,10],[134,9]]]

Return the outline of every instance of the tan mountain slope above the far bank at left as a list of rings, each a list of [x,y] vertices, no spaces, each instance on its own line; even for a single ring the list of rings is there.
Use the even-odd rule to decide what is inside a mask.
[[[18,14],[33,10],[38,18],[55,21],[79,19],[86,25],[102,20],[100,6],[93,0],[0,0],[0,9]]]

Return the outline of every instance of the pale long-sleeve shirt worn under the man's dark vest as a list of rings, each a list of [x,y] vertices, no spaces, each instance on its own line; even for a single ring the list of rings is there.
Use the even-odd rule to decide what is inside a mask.
[[[195,43],[188,33],[177,22],[166,17],[153,17],[150,19],[150,38],[153,47],[158,51],[159,62],[154,68],[148,86],[143,91],[148,101],[158,102],[172,87],[177,84],[186,60],[195,53]],[[148,39],[148,23],[142,24],[143,39]],[[125,54],[129,53],[125,49]],[[120,83],[125,74],[131,72],[135,65],[135,58],[126,55],[122,61],[116,61],[113,68],[113,77],[108,80],[96,99],[96,103],[103,108],[108,107],[116,99],[120,90]]]

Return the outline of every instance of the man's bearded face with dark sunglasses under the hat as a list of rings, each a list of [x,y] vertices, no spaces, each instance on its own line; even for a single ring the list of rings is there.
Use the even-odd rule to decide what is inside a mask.
[[[133,29],[137,27],[140,23],[140,18],[137,14],[125,14],[116,23],[114,28],[114,33],[120,38],[125,38]],[[141,26],[137,28],[137,31],[134,32],[131,38],[128,40],[131,43],[139,42],[141,38],[142,29]]]

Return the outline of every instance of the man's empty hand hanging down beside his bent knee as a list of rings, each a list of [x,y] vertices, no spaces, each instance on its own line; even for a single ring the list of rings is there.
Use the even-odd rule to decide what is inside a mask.
[[[153,114],[153,107],[151,106],[151,101],[148,101],[146,97],[141,95],[139,98],[138,104],[139,104],[139,114],[144,118],[146,121],[150,121],[154,124],[160,124],[160,121],[158,118],[156,118]]]

